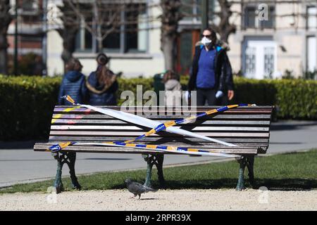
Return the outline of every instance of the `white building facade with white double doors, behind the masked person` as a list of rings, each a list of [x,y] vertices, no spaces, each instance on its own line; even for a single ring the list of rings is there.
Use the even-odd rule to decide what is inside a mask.
[[[210,22],[215,24],[218,18],[212,13],[221,10],[217,3],[209,1]],[[199,14],[199,5],[196,10],[194,7],[192,13]],[[263,79],[281,77],[285,72],[297,77],[316,70],[316,1],[232,1],[231,11],[230,23],[237,30],[229,36],[228,56],[235,73]],[[182,72],[189,69],[188,44],[193,49],[200,38],[200,25],[199,18],[180,21],[178,68]]]

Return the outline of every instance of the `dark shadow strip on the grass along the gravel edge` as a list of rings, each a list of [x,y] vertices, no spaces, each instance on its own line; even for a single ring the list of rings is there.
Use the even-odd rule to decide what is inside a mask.
[[[141,181],[138,181],[142,183]],[[164,187],[160,187],[159,181],[153,181],[152,187],[159,189],[219,189],[235,188],[237,179],[202,179],[192,181],[168,180]],[[317,188],[317,179],[255,179],[253,186],[248,179],[244,180],[246,188],[259,189],[265,186],[270,191],[304,191]],[[112,186],[111,188],[125,188],[125,185]]]

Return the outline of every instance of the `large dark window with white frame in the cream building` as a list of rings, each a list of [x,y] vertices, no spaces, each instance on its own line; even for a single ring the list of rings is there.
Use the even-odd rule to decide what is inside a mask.
[[[113,29],[102,41],[104,51],[110,52],[146,52],[147,51],[147,7],[146,4],[129,4],[125,6],[126,11],[120,12],[120,21],[117,27],[102,27],[102,29]],[[92,23],[91,18],[88,23]],[[85,21],[81,22],[82,24]],[[86,21],[87,23],[87,21]],[[97,51],[97,39],[91,32],[80,27],[76,38],[76,51]]]

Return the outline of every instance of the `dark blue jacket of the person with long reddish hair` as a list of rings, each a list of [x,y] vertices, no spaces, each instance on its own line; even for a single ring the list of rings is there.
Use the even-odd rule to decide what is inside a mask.
[[[96,72],[91,72],[87,79],[86,86],[90,105],[117,105],[117,81],[113,82],[113,84],[106,89],[105,84],[99,84]]]

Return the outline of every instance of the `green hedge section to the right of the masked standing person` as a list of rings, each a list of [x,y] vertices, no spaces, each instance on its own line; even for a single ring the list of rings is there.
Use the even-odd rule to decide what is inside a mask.
[[[235,79],[235,103],[275,105],[282,119],[317,119],[317,81]]]

